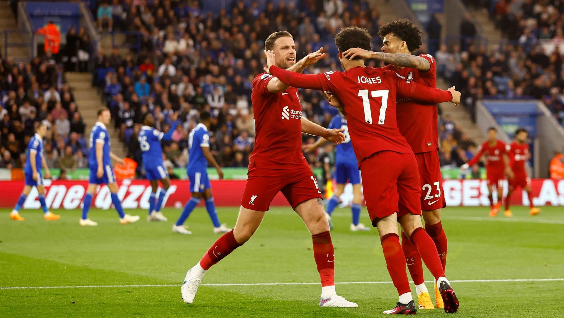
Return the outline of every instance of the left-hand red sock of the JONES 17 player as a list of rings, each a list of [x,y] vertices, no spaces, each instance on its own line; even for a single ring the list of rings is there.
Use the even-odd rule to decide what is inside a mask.
[[[399,244],[399,236],[396,233],[388,233],[382,236],[380,242],[386,259],[386,267],[395,288],[398,289],[398,295],[411,292],[407,279],[406,257],[403,255],[402,246]]]

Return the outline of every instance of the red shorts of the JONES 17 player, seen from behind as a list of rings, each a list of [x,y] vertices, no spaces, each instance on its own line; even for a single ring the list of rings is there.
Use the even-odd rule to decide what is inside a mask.
[[[421,215],[421,185],[417,160],[411,153],[380,151],[360,166],[364,200],[375,227],[378,220],[398,212]]]

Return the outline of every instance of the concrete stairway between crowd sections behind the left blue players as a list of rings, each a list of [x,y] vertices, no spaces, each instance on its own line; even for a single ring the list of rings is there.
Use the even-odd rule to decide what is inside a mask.
[[[85,138],[86,142],[89,143],[90,131],[98,120],[96,113],[100,107],[105,106],[102,102],[102,96],[100,96],[98,89],[92,86],[91,73],[67,72],[65,76],[67,77],[70,87],[72,87],[78,111],[82,114],[82,118],[86,124]],[[117,132],[114,131],[113,127],[112,122],[108,127],[112,152],[124,158],[126,154],[124,144],[118,139]]]

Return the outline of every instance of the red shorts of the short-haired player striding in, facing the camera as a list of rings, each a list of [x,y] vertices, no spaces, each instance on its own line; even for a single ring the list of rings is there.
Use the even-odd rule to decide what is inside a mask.
[[[307,165],[297,169],[266,169],[252,167],[241,199],[241,205],[255,211],[268,211],[270,202],[279,191],[292,209],[312,198],[321,198],[317,180]]]

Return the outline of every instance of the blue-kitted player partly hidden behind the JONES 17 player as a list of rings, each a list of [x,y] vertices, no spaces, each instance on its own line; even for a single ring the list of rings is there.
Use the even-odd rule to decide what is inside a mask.
[[[360,210],[362,209],[362,195],[360,194],[360,173],[358,170],[358,163],[356,162],[356,156],[352,150],[351,138],[349,135],[349,129],[347,127],[347,120],[341,114],[333,117],[331,123],[329,123],[328,129],[344,129],[343,134],[345,134],[345,142],[338,144],[336,160],[335,160],[335,174],[337,181],[337,189],[333,193],[331,199],[329,199],[329,204],[327,205],[326,217],[333,229],[333,224],[331,222],[331,214],[333,210],[339,204],[339,197],[343,194],[345,186],[347,183],[352,183],[352,192],[354,197],[352,198],[352,223],[351,231],[370,231],[369,227],[364,226],[360,223]],[[323,146],[327,139],[319,138],[315,143],[305,145],[303,150],[306,152],[314,151],[315,149]]]

